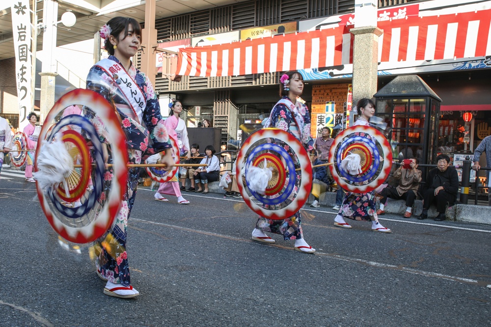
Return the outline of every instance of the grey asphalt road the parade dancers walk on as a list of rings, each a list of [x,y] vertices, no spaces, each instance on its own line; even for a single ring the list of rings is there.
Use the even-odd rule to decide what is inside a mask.
[[[121,300],[89,246],[58,240],[35,184],[2,170],[0,326],[491,326],[491,226],[385,215],[382,234],[306,208],[305,254],[252,241],[241,199],[153,194],[138,190],[128,230],[141,294]]]

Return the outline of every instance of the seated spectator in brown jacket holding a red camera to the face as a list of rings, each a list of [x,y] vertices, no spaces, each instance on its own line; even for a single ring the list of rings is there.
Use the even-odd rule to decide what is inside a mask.
[[[385,214],[385,201],[387,198],[394,200],[406,200],[406,212],[404,218],[411,218],[412,205],[416,200],[421,181],[421,171],[418,168],[418,159],[411,158],[409,168],[404,168],[404,165],[399,166],[394,172],[394,178],[400,178],[396,188],[386,187],[382,190],[382,199],[380,200],[380,209],[377,210],[377,215]]]

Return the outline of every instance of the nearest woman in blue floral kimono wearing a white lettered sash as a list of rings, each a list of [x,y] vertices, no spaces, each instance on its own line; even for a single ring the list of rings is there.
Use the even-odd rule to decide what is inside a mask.
[[[159,101],[147,76],[130,60],[140,46],[140,35],[139,23],[127,17],[112,18],[101,28],[101,37],[110,55],[90,69],[87,89],[100,93],[116,106],[127,138],[130,163],[139,164],[149,155],[165,151],[161,163],[170,170],[174,162]],[[104,294],[118,298],[133,298],[139,294],[131,285],[126,252],[126,228],[135,201],[138,176],[139,168],[128,170],[121,210],[108,235],[96,244],[96,249],[100,250],[96,260],[97,274],[107,280]]]

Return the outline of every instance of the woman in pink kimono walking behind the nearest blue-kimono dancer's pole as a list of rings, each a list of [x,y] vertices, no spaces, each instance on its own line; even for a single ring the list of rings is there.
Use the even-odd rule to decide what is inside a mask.
[[[164,121],[164,125],[167,127],[169,136],[177,142],[180,152],[177,155],[186,154],[186,159],[189,160],[191,158],[191,151],[189,147],[188,129],[184,120],[179,118],[179,114],[183,110],[183,105],[180,101],[176,100],[169,103],[169,108],[172,115]],[[156,201],[167,202],[169,200],[162,194],[175,195],[179,204],[189,204],[190,202],[182,196],[182,190],[183,188],[179,186],[177,176],[174,176],[170,181],[160,183],[159,189],[154,197]]]

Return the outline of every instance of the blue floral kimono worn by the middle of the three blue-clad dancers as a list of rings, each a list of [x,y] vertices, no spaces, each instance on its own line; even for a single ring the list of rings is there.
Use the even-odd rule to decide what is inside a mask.
[[[295,108],[296,105],[297,107]],[[273,107],[270,115],[270,126],[291,133],[302,143],[305,150],[310,151],[314,149],[314,141],[310,137],[310,113],[307,106],[300,103],[300,101],[297,101],[296,105],[293,104],[288,97],[283,97],[280,101],[278,101],[278,103],[276,103],[276,105]],[[298,113],[296,118],[294,118],[295,111]],[[300,135],[297,122],[299,124],[303,124],[303,126],[300,126]],[[294,155],[294,152],[290,149],[290,147],[288,145],[284,145],[283,149],[285,149],[285,151],[291,155],[291,157],[294,159],[295,165],[300,167],[300,161],[298,160],[297,156]],[[300,176],[297,177],[300,178]],[[297,191],[298,188],[295,186],[294,191],[292,192],[292,195],[288,201],[292,200]],[[300,221],[300,211],[298,211],[295,216],[285,217],[283,220],[272,220],[265,217],[260,217],[256,223],[256,228],[283,235],[285,240],[296,240],[303,238],[303,231]]]

